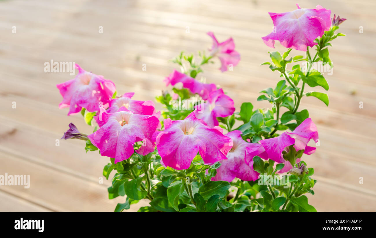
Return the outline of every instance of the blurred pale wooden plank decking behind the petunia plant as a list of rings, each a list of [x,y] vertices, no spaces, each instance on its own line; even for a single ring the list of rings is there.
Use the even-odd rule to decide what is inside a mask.
[[[319,3],[299,2],[302,8]],[[125,201],[109,200],[109,181],[99,183],[107,157],[97,151],[86,154],[79,140],[61,140],[55,146],[70,122],[83,133],[93,128],[80,114],[67,116],[68,108],[58,108],[62,97],[55,85],[73,76],[45,73],[44,62],[74,61],[114,81],[119,94],[135,92],[135,99],[154,100],[165,88],[162,80],[176,67],[168,59],[180,50],[208,49],[212,42],[205,33],[213,31],[220,41],[234,38],[241,61],[232,72],[221,73],[219,61],[206,66],[206,82],[221,85],[237,111],[242,102],[270,107],[256,101],[259,91],[279,80],[277,73],[259,66],[268,61],[271,50],[261,37],[272,30],[268,11],[292,11],[295,4],[292,0],[0,1],[0,174],[30,175],[29,189],[0,186],[0,211],[113,211]],[[327,76],[329,107],[313,97],[303,98],[300,107],[309,110],[320,135],[317,152],[304,157],[318,180],[309,203],[318,211],[376,211],[376,2],[320,4],[348,20],[341,25],[347,36],[337,38],[330,49],[335,67]],[[279,42],[276,47],[284,50]],[[359,177],[364,184],[359,184]],[[132,205],[130,211],[141,204],[147,202]]]

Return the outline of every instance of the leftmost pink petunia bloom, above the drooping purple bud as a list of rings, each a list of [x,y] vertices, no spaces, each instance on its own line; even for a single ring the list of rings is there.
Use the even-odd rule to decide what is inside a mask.
[[[108,105],[114,95],[115,84],[101,75],[81,69],[78,64],[76,69],[78,74],[74,79],[56,85],[63,96],[59,108],[69,107],[69,116],[81,111],[82,108],[94,112],[99,110],[100,104]]]

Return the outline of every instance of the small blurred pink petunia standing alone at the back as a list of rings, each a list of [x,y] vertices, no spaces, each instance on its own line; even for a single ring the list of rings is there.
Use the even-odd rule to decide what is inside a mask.
[[[221,67],[219,69],[224,72],[227,71],[227,67],[230,64],[237,66],[240,61],[240,54],[235,51],[235,43],[232,37],[219,43],[213,32],[208,32],[207,34],[213,39],[213,46],[210,50],[211,55],[218,56],[221,61]]]

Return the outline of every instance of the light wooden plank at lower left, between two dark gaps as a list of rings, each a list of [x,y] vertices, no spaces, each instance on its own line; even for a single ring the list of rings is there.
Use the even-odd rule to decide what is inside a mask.
[[[19,159],[0,151],[0,174],[30,175],[30,188],[1,186],[9,194],[29,200],[52,211],[114,211],[124,197],[108,199],[107,188],[98,182],[85,181],[64,172]],[[146,206],[146,201],[135,204],[130,211]]]

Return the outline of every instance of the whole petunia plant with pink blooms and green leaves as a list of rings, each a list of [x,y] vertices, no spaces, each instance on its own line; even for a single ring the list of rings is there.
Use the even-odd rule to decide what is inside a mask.
[[[308,144],[312,139],[319,145],[318,130],[299,105],[305,96],[329,105],[326,93],[304,89],[329,90],[320,68],[333,67],[329,46],[344,35],[335,31],[346,19],[331,18],[331,11],[320,5],[297,7],[269,13],[274,29],[262,37],[269,47],[277,40],[288,48],[282,54],[269,52],[270,61],[262,64],[282,77],[257,99],[270,102],[271,108],[244,102],[236,112],[222,88],[197,79],[214,58],[219,58],[222,72],[240,61],[233,39],[220,43],[212,32],[208,55],[181,52],[172,60],[181,72],[174,70],[165,78],[166,87],[173,88],[156,97],[162,112],[155,111],[152,101],[133,100],[134,93],[117,96],[112,81],[78,65],[74,79],[57,85],[63,96],[60,108],[69,107],[68,115],[81,111],[88,125],[96,121],[93,133],[80,133],[70,124],[63,138],[85,140],[86,152],[99,150],[110,158],[103,169],[106,179],[116,172],[109,199],[126,197],[115,211],[144,198],[150,206],[141,207],[143,212],[316,211],[304,195],[314,194],[314,169],[302,156],[315,152]],[[293,49],[305,55],[289,57]]]

